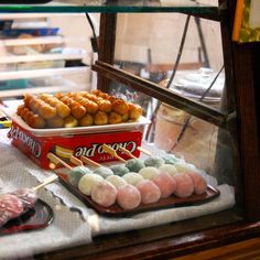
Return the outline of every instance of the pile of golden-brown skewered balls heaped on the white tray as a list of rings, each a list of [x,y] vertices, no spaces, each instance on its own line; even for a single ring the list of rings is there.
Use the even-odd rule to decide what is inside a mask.
[[[74,128],[137,121],[142,108],[95,89],[77,93],[25,94],[17,113],[32,128]]]

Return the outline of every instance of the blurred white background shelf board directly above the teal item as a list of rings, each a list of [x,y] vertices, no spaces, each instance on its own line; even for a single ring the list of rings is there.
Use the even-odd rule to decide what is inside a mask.
[[[0,80],[12,80],[12,79],[25,79],[25,78],[37,78],[48,77],[54,75],[72,75],[72,74],[86,74],[90,73],[90,68],[83,67],[65,67],[65,68],[44,68],[34,71],[20,71],[20,72],[4,72],[0,74]]]

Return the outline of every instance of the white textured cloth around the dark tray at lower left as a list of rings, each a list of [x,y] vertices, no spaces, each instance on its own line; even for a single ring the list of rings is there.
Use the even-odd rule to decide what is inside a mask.
[[[3,183],[0,193],[11,192],[18,187],[39,185],[33,173],[39,173],[36,175],[41,181],[50,176],[50,172],[42,171],[19,150],[11,147],[3,130],[0,131],[0,177]],[[56,186],[56,189],[64,189],[58,183],[51,185]],[[37,195],[52,207],[53,223],[43,229],[0,236],[0,260],[19,259],[91,241],[89,225],[82,219],[78,212],[73,212],[63,205],[61,199],[53,196],[50,191],[42,188]],[[72,197],[71,203],[73,204],[76,198],[71,194],[67,195]],[[75,204],[77,205],[79,202],[76,199]]]

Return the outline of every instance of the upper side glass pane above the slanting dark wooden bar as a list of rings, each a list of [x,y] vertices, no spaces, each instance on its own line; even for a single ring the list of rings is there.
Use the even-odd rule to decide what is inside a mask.
[[[118,15],[116,64],[224,111],[221,50],[218,22],[180,13]]]

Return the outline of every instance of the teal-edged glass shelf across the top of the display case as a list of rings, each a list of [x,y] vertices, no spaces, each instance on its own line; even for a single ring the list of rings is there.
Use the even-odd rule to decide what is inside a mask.
[[[219,20],[223,9],[192,0],[52,1],[45,4],[0,4],[0,12],[184,12]]]

